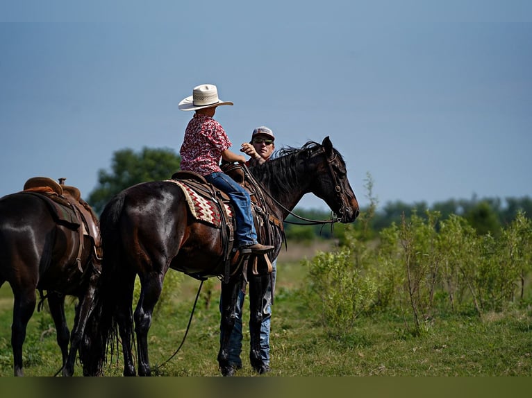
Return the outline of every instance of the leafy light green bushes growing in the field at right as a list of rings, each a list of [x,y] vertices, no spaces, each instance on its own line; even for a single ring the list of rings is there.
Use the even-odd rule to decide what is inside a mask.
[[[306,265],[308,305],[324,325],[347,328],[359,315],[395,311],[408,334],[422,334],[435,316],[474,311],[481,316],[526,305],[532,263],[532,224],[519,211],[497,237],[479,234],[461,216],[438,211],[403,216],[368,241],[346,228],[337,252]]]

